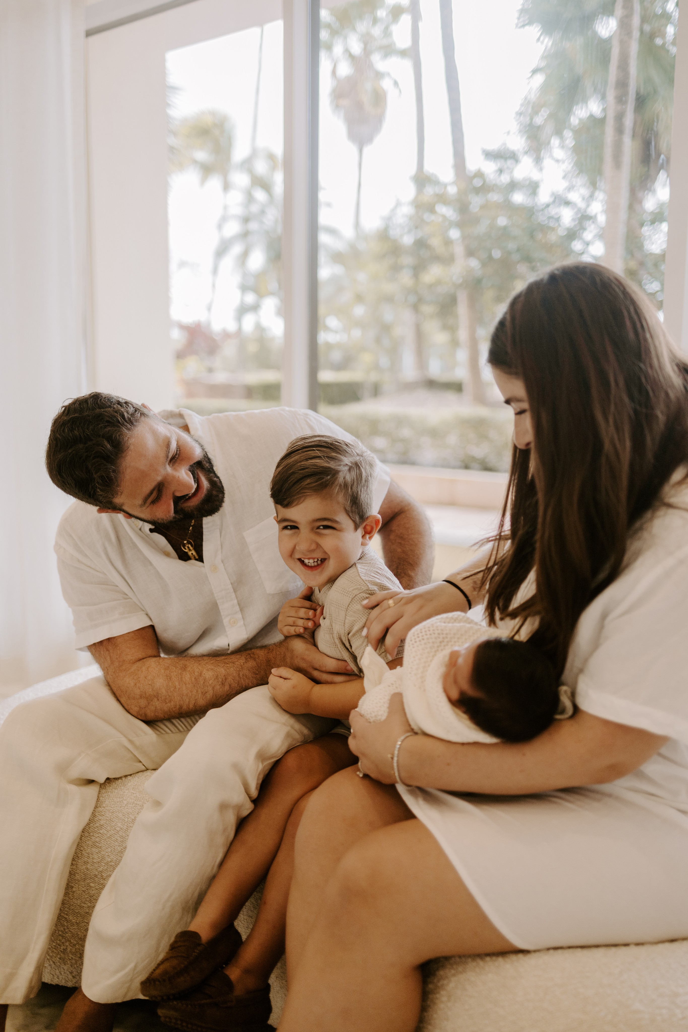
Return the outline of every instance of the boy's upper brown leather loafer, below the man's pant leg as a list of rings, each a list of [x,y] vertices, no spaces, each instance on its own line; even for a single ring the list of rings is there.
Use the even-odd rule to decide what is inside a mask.
[[[149,1000],[168,1000],[199,986],[212,971],[229,964],[241,945],[241,936],[233,925],[212,939],[202,942],[198,932],[179,932],[169,949],[141,982],[141,993]]]

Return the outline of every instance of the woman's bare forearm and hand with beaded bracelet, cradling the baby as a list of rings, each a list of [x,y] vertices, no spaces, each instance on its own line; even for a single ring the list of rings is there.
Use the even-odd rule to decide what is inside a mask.
[[[362,769],[391,784],[389,760],[399,737],[411,731],[400,697],[393,696],[386,720],[369,723],[352,713],[352,751]],[[398,768],[407,784],[447,792],[527,796],[587,784],[616,781],[636,770],[668,739],[640,728],[614,723],[579,710],[568,720],[555,720],[531,742],[457,745],[429,735],[407,738]]]

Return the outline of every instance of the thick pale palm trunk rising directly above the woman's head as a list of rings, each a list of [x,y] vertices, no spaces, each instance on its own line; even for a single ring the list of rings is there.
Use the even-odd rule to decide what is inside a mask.
[[[630,194],[630,157],[635,110],[640,0],[616,0],[617,23],[612,37],[612,60],[607,87],[602,183],[607,194],[604,263],[623,272]]]

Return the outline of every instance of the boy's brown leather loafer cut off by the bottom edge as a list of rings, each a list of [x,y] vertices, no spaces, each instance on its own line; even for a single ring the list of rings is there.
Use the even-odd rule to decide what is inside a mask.
[[[185,1032],[274,1032],[267,1024],[271,1010],[269,986],[236,996],[232,979],[214,971],[182,999],[161,1003],[158,1015]]]

